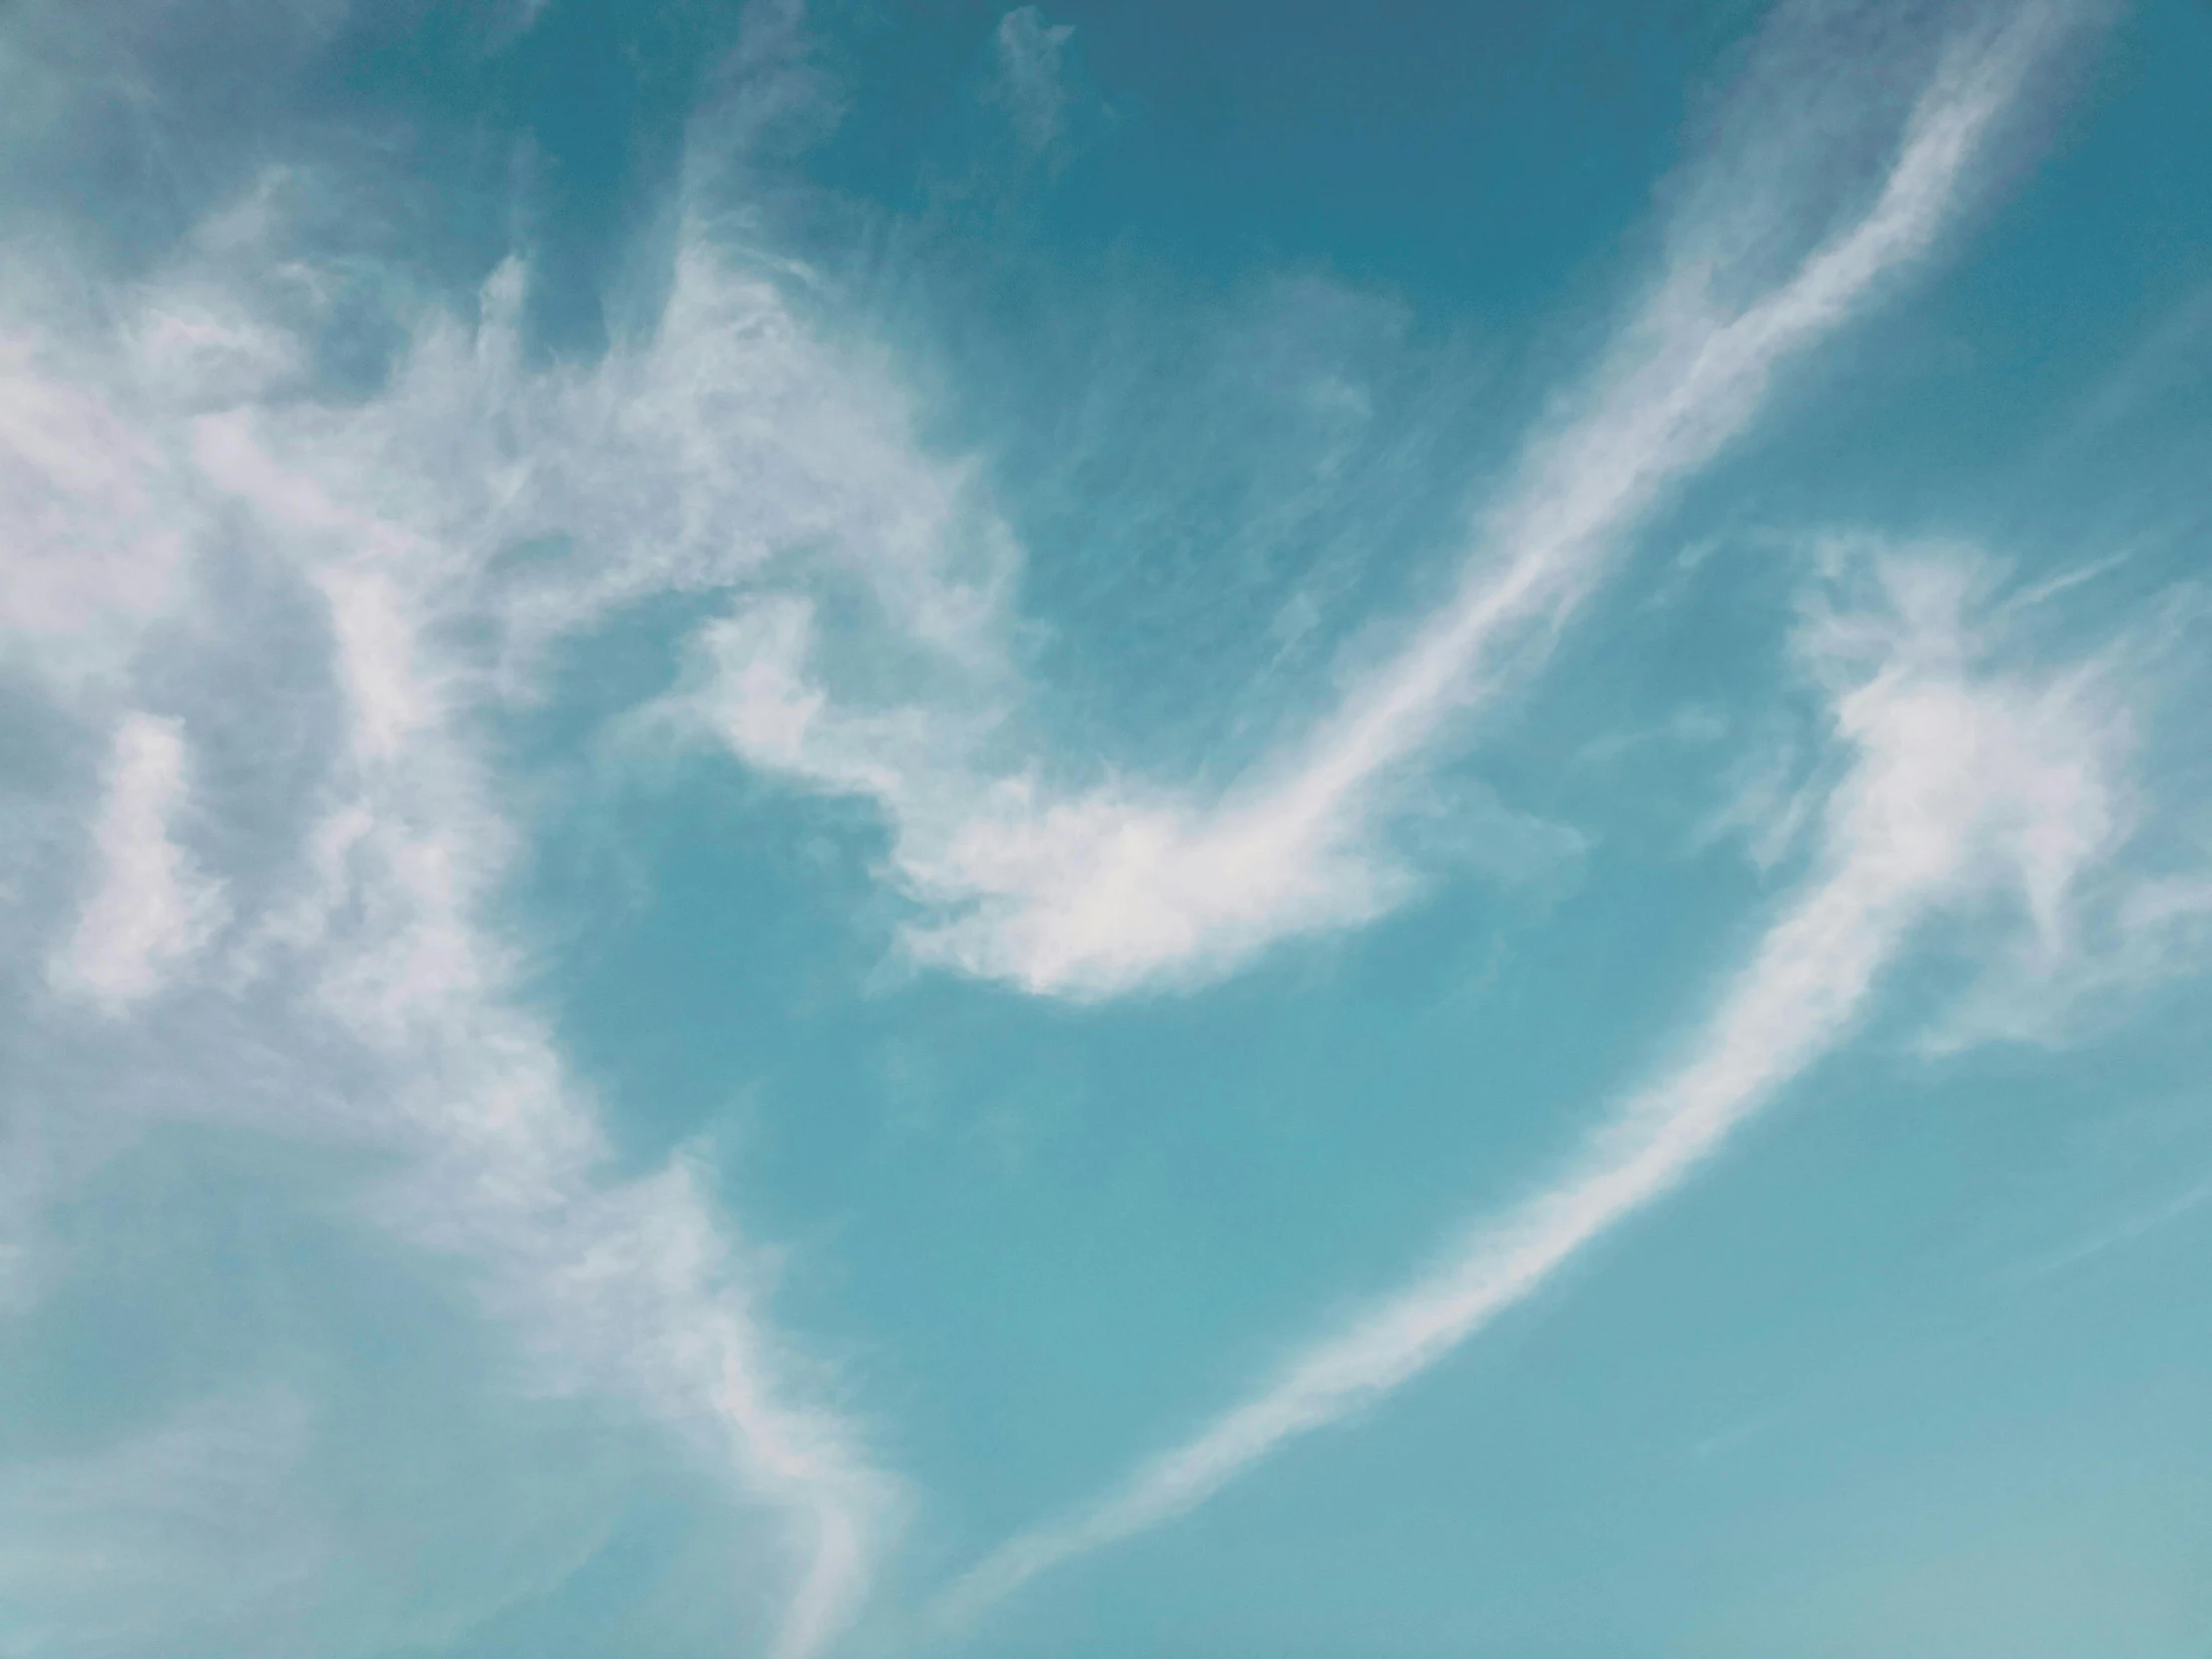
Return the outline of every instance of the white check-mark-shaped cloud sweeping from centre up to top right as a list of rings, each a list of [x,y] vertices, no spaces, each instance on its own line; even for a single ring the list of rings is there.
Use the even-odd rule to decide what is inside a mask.
[[[675,710],[761,768],[872,796],[896,832],[896,874],[927,907],[907,933],[927,962],[1104,998],[1371,920],[1416,883],[1387,838],[1409,772],[1544,657],[1637,526],[1752,425],[1776,372],[1936,243],[2064,24],[2059,9],[2017,7],[1953,40],[1893,135],[1871,201],[1774,279],[1761,272],[1807,215],[1790,168],[1834,164],[1832,135],[1794,131],[1776,148],[1801,153],[1759,157],[1752,206],[1686,192],[1690,219],[1668,237],[1648,303],[1528,442],[1449,599],[1332,714],[1228,790],[1082,787],[1009,761],[1004,701],[841,701],[803,597],[708,635],[703,688]],[[1778,95],[1759,84],[1747,97]],[[1736,161],[1719,157],[1712,173]],[[757,644],[772,646],[772,668]]]

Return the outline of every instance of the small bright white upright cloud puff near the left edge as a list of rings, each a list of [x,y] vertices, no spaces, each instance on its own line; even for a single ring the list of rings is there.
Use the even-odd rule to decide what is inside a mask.
[[[131,714],[115,730],[93,821],[97,887],[46,982],[108,1013],[153,995],[223,925],[228,905],[177,845],[188,752],[173,719]]]

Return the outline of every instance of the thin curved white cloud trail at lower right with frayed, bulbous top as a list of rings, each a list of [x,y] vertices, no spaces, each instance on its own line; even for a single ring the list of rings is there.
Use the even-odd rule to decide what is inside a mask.
[[[1436,1365],[1679,1186],[1832,1051],[1944,902],[1991,885],[2033,905],[2064,900],[2124,834],[2110,772],[2126,726],[2088,670],[1975,675],[1986,646],[1964,617],[1971,577],[1889,564],[1878,613],[1816,617],[1807,630],[1814,664],[1851,681],[1838,686],[1836,728],[1856,763],[1827,805],[1816,872],[1688,1055],[1630,1095],[1557,1181],[1473,1228],[1427,1274],[1099,1502],[991,1553],[938,1601],[936,1628],[960,1628],[1040,1573],[1175,1520],[1290,1440]]]

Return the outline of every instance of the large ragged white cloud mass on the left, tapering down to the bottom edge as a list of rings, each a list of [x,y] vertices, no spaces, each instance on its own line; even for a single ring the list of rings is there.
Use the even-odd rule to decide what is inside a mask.
[[[133,1097],[161,1095],[146,1079],[175,1064],[195,1079],[179,1110],[398,1155],[376,1212],[467,1265],[535,1387],[644,1402],[734,1498],[783,1517],[790,1597],[770,1646],[801,1659],[858,1613],[898,1482],[830,1402],[834,1380],[774,1329],[770,1259],[712,1181],[684,1159],[622,1177],[522,1004],[498,925],[520,825],[482,721],[538,695],[566,630],[639,595],[728,584],[830,529],[876,551],[865,580],[898,597],[942,555],[929,513],[949,511],[956,482],[900,447],[874,383],[816,347],[765,281],[699,250],[653,338],[599,365],[522,363],[524,279],[504,268],[480,323],[403,312],[409,343],[383,389],[316,396],[294,367],[323,290],[285,246],[285,199],[314,188],[276,179],[73,332],[35,307],[18,323],[18,363],[69,416],[58,431],[33,409],[0,434],[22,484],[7,591],[27,695],[66,726],[157,661],[186,708],[119,726],[91,825],[97,880],[64,918],[51,980],[117,1020],[166,989],[241,1035],[221,1071],[184,1026],[131,1024],[113,1064],[139,1068]],[[305,321],[239,268],[294,272]],[[64,361],[66,376],[40,367]],[[872,493],[883,471],[896,478]],[[568,557],[518,571],[518,544],[546,538]],[[88,575],[82,549],[104,568]],[[301,617],[285,648],[312,657],[299,679],[330,730],[250,812],[190,801],[204,834],[188,858],[195,721],[288,752],[296,714],[226,690],[232,664],[272,644],[250,635],[252,608],[210,604],[217,571]],[[927,571],[920,588],[905,606],[918,630],[958,637],[958,582]],[[80,624],[104,630],[97,653],[75,646]],[[226,905],[232,947],[215,949]],[[108,1060],[84,1057],[69,1020],[35,1042],[64,1097],[108,1088],[86,1071]],[[62,1164],[49,1175],[69,1179]]]

